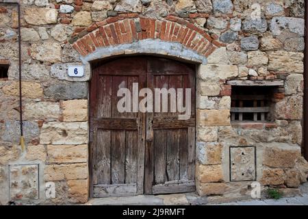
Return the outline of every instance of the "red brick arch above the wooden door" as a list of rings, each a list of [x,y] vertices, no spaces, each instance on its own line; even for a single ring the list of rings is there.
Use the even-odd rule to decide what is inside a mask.
[[[74,34],[69,42],[73,43],[73,48],[85,57],[101,48],[150,39],[181,44],[181,47],[203,57],[207,57],[221,45],[204,29],[183,18],[167,16],[161,21],[139,17],[138,14],[120,14],[93,23],[79,34]]]

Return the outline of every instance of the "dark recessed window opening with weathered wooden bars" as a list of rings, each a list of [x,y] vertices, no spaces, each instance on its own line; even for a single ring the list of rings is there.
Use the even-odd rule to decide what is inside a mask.
[[[273,86],[232,86],[231,121],[272,120]]]

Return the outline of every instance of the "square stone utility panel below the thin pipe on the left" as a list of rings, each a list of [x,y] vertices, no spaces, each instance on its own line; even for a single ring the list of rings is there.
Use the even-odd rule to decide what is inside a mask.
[[[38,164],[10,165],[10,199],[38,199]]]

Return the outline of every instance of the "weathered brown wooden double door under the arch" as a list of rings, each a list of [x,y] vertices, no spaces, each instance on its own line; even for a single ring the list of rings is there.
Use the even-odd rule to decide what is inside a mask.
[[[144,99],[133,96],[137,94],[137,83],[138,92],[142,88],[153,92],[153,112],[140,112],[136,105],[133,107],[136,98],[138,103]],[[91,196],[195,190],[194,85],[194,66],[175,60],[123,57],[94,65],[90,81]],[[131,100],[126,102],[131,103],[130,112],[118,110],[118,101],[123,99],[117,95],[120,88],[131,91]],[[183,113],[171,110],[177,99],[170,94],[168,110],[162,112],[163,101],[155,101],[155,88],[190,88],[190,118],[179,120],[178,115]],[[188,103],[183,93],[184,106]],[[155,112],[155,104],[159,104],[160,111]]]

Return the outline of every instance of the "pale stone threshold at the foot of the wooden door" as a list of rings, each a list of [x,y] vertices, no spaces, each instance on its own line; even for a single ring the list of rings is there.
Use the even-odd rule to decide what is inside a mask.
[[[91,198],[85,205],[205,205],[207,197],[195,192],[123,197]]]

